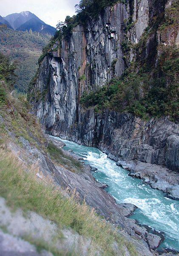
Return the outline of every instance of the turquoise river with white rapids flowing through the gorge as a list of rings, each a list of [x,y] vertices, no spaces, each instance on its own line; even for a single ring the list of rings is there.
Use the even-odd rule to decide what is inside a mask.
[[[151,188],[140,179],[128,176],[128,171],[117,166],[97,148],[62,141],[66,144],[65,150],[73,150],[83,157],[85,164],[97,168],[93,176],[97,181],[108,184],[105,190],[117,203],[133,203],[138,207],[131,218],[165,232],[165,240],[160,248],[179,250],[179,201],[168,198],[165,193]]]

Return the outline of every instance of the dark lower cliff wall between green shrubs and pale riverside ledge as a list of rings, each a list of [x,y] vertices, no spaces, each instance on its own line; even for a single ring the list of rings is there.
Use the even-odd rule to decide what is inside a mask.
[[[168,118],[144,122],[128,113],[80,109],[78,124],[58,131],[58,125],[51,129],[54,135],[99,147],[116,161],[135,159],[178,170],[179,127]]]

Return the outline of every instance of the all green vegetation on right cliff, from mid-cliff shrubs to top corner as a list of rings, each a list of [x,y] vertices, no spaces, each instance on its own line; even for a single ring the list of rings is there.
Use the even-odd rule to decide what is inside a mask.
[[[172,121],[179,121],[179,48],[175,44],[159,45],[157,65],[156,48],[145,56],[147,40],[157,30],[163,42],[169,32],[177,35],[179,5],[174,1],[165,10],[165,15],[154,17],[151,24],[138,44],[130,44],[126,34],[125,41],[122,41],[124,56],[127,59],[132,48],[135,61],[130,63],[122,77],[114,77],[97,91],[85,91],[81,98],[83,106],[94,106],[97,112],[107,107],[119,112],[128,111],[144,119],[170,115]],[[128,31],[132,25],[126,26]]]

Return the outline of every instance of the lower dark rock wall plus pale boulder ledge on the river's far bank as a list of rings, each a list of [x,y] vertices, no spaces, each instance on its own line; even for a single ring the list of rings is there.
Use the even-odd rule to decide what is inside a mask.
[[[46,132],[78,144],[97,147],[149,182],[153,188],[179,198],[179,125],[168,117],[142,121],[128,113],[81,109],[79,122],[63,131],[58,124]]]

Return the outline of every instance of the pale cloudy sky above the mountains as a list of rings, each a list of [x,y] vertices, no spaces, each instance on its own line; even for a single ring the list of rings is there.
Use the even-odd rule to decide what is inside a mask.
[[[56,27],[67,15],[75,14],[74,6],[79,0],[0,0],[0,15],[30,11],[45,23]]]

